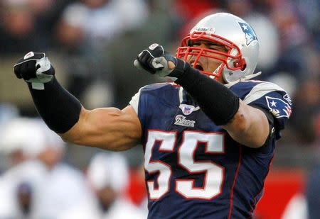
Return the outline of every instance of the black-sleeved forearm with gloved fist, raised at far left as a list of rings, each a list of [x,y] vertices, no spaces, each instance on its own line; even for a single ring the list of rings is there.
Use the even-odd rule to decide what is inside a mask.
[[[38,113],[55,133],[65,133],[79,120],[81,103],[55,79],[55,69],[44,52],[28,52],[14,74],[28,83]]]

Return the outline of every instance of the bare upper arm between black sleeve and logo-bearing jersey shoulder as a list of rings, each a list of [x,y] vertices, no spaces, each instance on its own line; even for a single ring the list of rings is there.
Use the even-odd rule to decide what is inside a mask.
[[[247,147],[261,147],[270,133],[270,124],[265,113],[259,108],[240,101],[240,107],[233,120],[223,125],[231,137]]]

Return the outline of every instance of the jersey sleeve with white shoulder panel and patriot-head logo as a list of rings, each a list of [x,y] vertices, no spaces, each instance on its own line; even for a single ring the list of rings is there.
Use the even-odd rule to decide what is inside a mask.
[[[252,87],[243,101],[251,106],[267,109],[274,116],[276,137],[280,138],[280,130],[284,129],[292,113],[292,101],[284,89],[271,82],[262,82]]]

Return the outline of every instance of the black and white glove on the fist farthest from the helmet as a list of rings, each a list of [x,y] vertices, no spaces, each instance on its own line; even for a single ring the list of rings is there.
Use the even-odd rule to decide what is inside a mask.
[[[55,69],[43,52],[28,52],[14,64],[14,74],[18,79],[31,82],[33,89],[43,89],[43,84],[50,82]]]

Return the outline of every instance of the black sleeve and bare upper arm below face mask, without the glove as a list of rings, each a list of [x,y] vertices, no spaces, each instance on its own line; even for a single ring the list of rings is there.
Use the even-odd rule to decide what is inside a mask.
[[[260,147],[265,143],[269,125],[262,111],[247,106],[226,86],[201,74],[187,63],[176,76],[176,82],[196,99],[215,124],[228,131],[233,140],[248,147]]]

